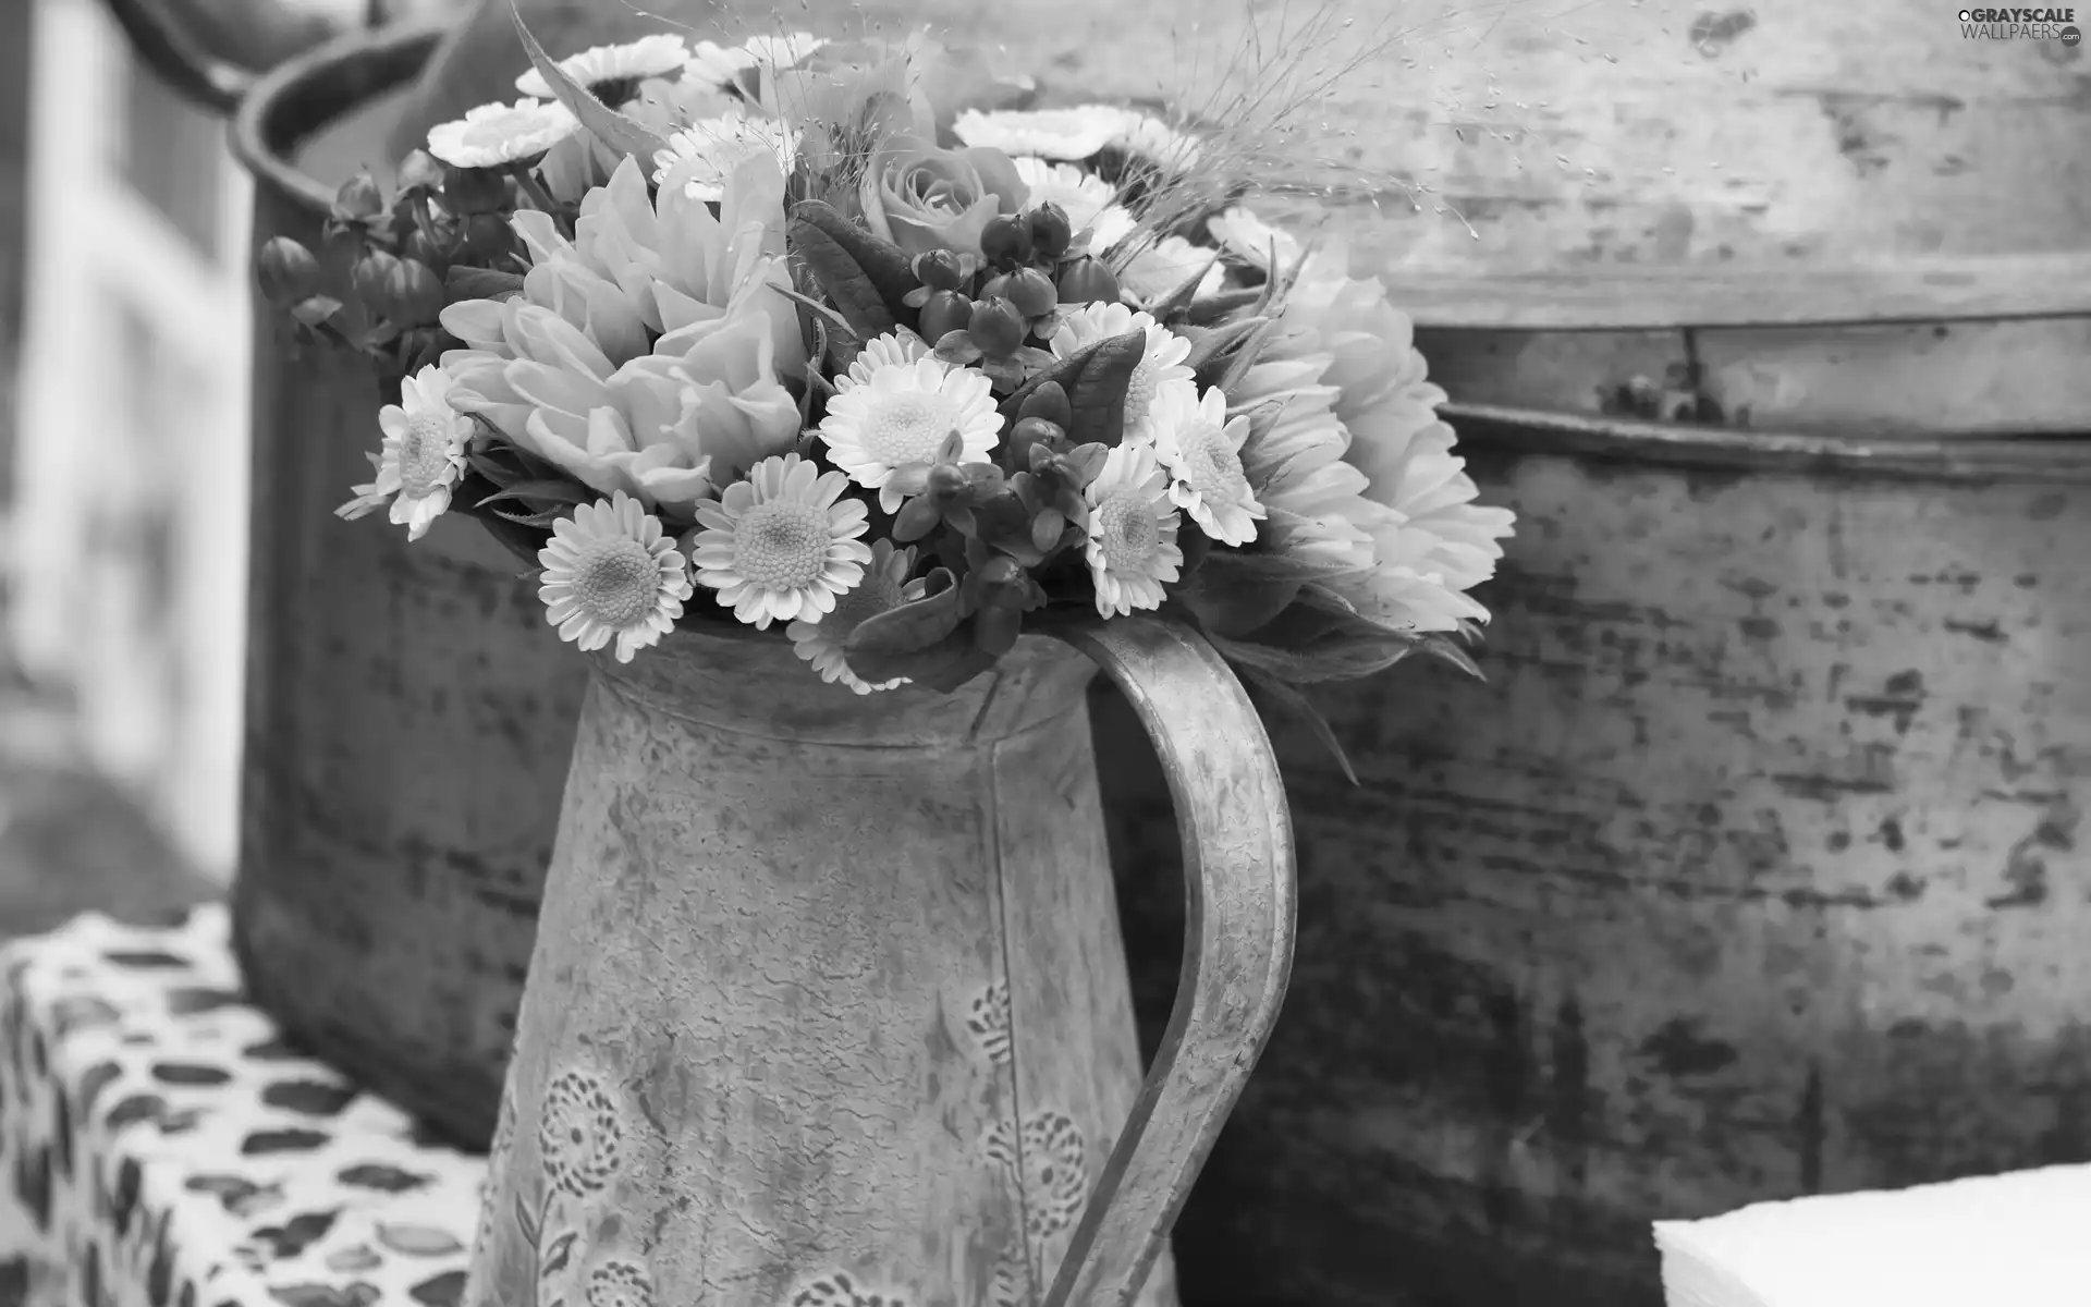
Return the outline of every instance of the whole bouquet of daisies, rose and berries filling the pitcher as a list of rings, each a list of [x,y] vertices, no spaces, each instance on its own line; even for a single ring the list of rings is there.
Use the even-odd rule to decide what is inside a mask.
[[[780,625],[859,694],[1081,613],[1179,617],[1294,707],[1472,669],[1512,514],[1382,284],[1242,203],[1225,123],[1018,109],[928,38],[519,36],[521,98],[341,190],[349,303],[261,253],[397,381],[343,517],[477,517],[583,650]]]

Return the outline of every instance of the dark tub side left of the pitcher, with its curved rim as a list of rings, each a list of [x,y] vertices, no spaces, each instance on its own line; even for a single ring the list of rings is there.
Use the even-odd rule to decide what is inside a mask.
[[[320,249],[330,186],[284,153],[429,38],[289,65],[240,121],[255,243]],[[345,276],[330,268],[330,276]],[[470,521],[345,523],[383,395],[255,303],[253,546],[234,941],[284,1029],[483,1146],[529,962],[585,659]]]

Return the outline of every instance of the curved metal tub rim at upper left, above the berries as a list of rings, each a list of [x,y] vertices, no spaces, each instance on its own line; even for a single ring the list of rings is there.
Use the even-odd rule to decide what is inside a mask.
[[[335,190],[299,171],[289,153],[372,96],[406,84],[447,33],[450,23],[429,21],[351,31],[276,67],[240,102],[232,153],[259,184],[326,213]]]

